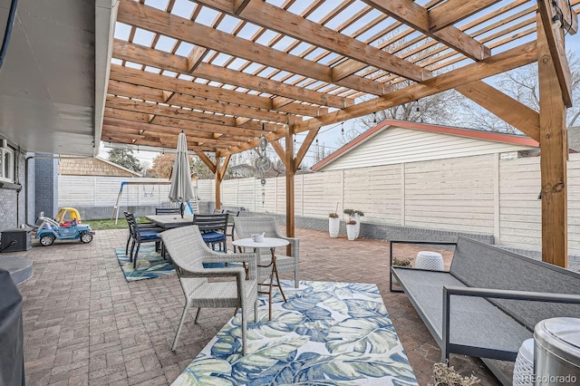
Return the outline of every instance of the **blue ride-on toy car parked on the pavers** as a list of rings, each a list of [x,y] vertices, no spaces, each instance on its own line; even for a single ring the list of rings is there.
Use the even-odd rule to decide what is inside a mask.
[[[78,240],[83,243],[92,242],[94,232],[91,226],[78,224],[76,220],[59,224],[53,218],[38,217],[40,225],[36,230],[35,237],[40,240],[41,246],[51,246],[54,240]]]

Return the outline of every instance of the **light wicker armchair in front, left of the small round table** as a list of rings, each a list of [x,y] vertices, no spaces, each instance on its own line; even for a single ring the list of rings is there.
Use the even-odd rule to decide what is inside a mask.
[[[257,322],[256,254],[234,255],[212,251],[201,237],[198,226],[169,229],[160,236],[173,260],[186,299],[171,350],[175,351],[189,307],[198,307],[194,323],[198,323],[201,308],[236,307],[242,309],[242,351],[246,354],[247,318],[254,314],[254,321]],[[204,263],[246,263],[246,268],[241,265],[204,268]],[[208,281],[211,277],[227,276],[235,277],[236,281]]]

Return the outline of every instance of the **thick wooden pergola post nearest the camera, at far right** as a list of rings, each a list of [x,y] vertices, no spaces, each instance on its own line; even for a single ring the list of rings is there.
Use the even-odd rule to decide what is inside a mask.
[[[546,34],[563,34],[542,26],[537,15],[538,78],[540,96],[540,159],[542,181],[542,260],[567,267],[567,140],[565,102]],[[563,37],[563,36],[562,36]],[[567,64],[567,63],[566,63]]]

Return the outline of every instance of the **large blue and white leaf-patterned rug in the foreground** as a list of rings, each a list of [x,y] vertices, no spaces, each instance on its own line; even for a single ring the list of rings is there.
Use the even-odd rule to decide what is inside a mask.
[[[283,281],[272,321],[260,294],[258,323],[241,314],[199,352],[173,385],[416,385],[376,285]],[[253,322],[253,318],[250,321]]]

